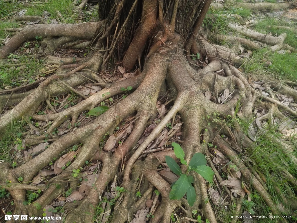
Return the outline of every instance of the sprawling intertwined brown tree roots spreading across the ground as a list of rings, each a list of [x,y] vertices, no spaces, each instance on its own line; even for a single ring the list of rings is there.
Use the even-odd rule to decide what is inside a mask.
[[[82,1],[82,4],[85,2],[86,1]],[[157,1],[154,2],[157,4]],[[157,10],[154,7],[149,7],[146,9],[146,12],[147,15],[151,15],[151,13],[157,13]],[[150,30],[152,28],[149,26],[151,25],[151,19],[152,18],[149,16],[143,18],[143,26],[140,26],[139,29]],[[83,39],[89,37],[91,39],[100,24],[101,23],[90,23],[89,26],[77,25],[78,27],[76,28],[84,30],[84,33],[89,33],[89,36],[83,36]],[[57,46],[67,44],[70,40],[72,43],[77,43],[76,38],[78,38],[78,36],[69,36],[66,34],[70,26],[63,26],[63,30],[66,29],[65,32],[60,29],[60,26],[61,25],[35,26],[32,28],[34,33],[31,33],[31,28],[20,30],[20,33],[15,35],[12,41],[7,44],[5,48],[2,48],[1,52],[7,55],[15,50],[17,44],[24,40],[23,38],[26,39],[42,34],[48,37],[48,40],[44,40],[44,43],[48,45],[48,51],[56,49]],[[254,38],[271,45],[270,49],[272,51],[279,50],[280,48],[287,48],[292,52],[296,51],[296,49],[283,43],[285,39],[284,34],[279,37],[271,37],[252,32],[240,26],[232,24],[229,24],[229,26],[231,29],[249,38]],[[45,29],[45,27],[47,28]],[[22,37],[23,35],[25,37]],[[240,66],[244,62],[244,59],[238,56],[234,49],[210,44],[206,41],[207,35],[212,35],[212,38],[218,42],[228,40],[228,42],[232,42],[235,45],[240,44],[249,49],[260,48],[257,43],[251,40],[217,35],[206,31],[205,36],[197,36],[196,43],[191,47],[194,54],[199,52],[202,55],[208,55],[209,62],[206,62],[206,66],[203,69],[197,71],[189,65],[191,61],[186,60],[180,45],[177,44],[177,46],[175,46],[176,48],[173,50],[172,47],[166,45],[166,43],[162,43],[158,45],[158,51],[153,52],[153,54],[149,56],[141,74],[127,80],[116,82],[112,85],[104,84],[105,82],[103,83],[101,78],[94,76],[94,71],[97,72],[102,63],[104,63],[102,59],[99,59],[99,62],[97,61],[97,59],[102,56],[99,50],[91,55],[89,61],[85,60],[81,61],[79,65],[64,67],[71,68],[71,71],[66,72],[61,69],[62,73],[56,73],[56,75],[51,76],[43,81],[39,87],[31,90],[31,92],[22,93],[19,97],[15,98],[12,96],[11,99],[13,99],[13,102],[20,99],[23,100],[9,113],[1,117],[0,132],[4,132],[6,126],[13,120],[32,116],[34,120],[49,122],[50,124],[47,125],[45,129],[47,132],[51,133],[68,119],[71,119],[71,124],[73,125],[83,112],[90,111],[109,97],[121,94],[121,88],[132,86],[134,90],[127,98],[117,102],[107,112],[94,119],[90,124],[84,125],[75,131],[71,131],[60,138],[55,138],[50,134],[49,138],[53,143],[38,156],[19,167],[10,169],[11,166],[7,162],[0,163],[2,170],[0,173],[0,185],[3,185],[10,191],[16,204],[15,213],[41,216],[42,209],[37,210],[34,205],[40,204],[42,207],[49,205],[53,200],[59,197],[61,193],[66,191],[68,187],[78,190],[80,181],[77,177],[72,175],[73,170],[83,167],[86,161],[100,161],[102,163],[102,169],[101,172],[98,173],[94,186],[91,187],[89,194],[82,201],[77,203],[69,202],[64,206],[68,211],[65,216],[65,222],[92,222],[95,215],[95,209],[93,207],[97,206],[106,187],[114,180],[118,169],[121,169],[121,167],[124,168],[124,172],[120,180],[122,186],[127,191],[122,194],[121,199],[116,203],[111,222],[126,222],[131,220],[136,211],[145,207],[146,199],[153,195],[154,189],[160,192],[160,197],[157,197],[155,200],[159,199],[161,202],[159,206],[154,207],[155,209],[152,207],[155,217],[151,219],[151,222],[170,222],[171,213],[176,208],[181,208],[187,218],[192,218],[192,210],[199,210],[205,219],[208,219],[210,222],[217,222],[211,202],[205,202],[209,200],[207,192],[209,185],[195,172],[191,172],[194,177],[195,191],[196,194],[198,194],[195,204],[190,207],[184,198],[181,200],[168,199],[170,184],[159,175],[157,167],[165,162],[165,156],[176,158],[172,150],[149,154],[145,159],[139,159],[143,151],[146,150],[149,144],[159,135],[166,124],[168,124],[170,120],[175,120],[177,113],[184,122],[184,138],[181,142],[187,162],[189,162],[193,154],[197,152],[212,156],[211,151],[208,151],[210,148],[208,148],[207,145],[216,145],[218,151],[225,157],[230,157],[230,160],[239,168],[242,174],[240,180],[244,181],[247,186],[246,189],[249,191],[257,191],[266,202],[266,205],[271,208],[273,214],[281,215],[288,213],[288,211],[290,211],[289,208],[288,210],[280,208],[279,204],[271,197],[271,194],[267,192],[264,180],[249,168],[247,162],[240,158],[240,153],[236,150],[236,146],[238,147],[239,145],[239,147],[242,147],[241,149],[254,149],[255,145],[253,145],[253,141],[250,139],[251,137],[247,137],[246,133],[241,130],[238,118],[251,119],[253,117],[253,109],[256,106],[268,110],[265,115],[258,119],[259,121],[271,120],[273,117],[278,117],[282,120],[285,118],[282,112],[296,116],[296,106],[294,108],[294,103],[291,103],[289,106],[285,105],[279,102],[274,96],[276,93],[275,89],[277,89],[277,92],[291,96],[294,100],[297,100],[297,91],[292,88],[292,84],[294,83],[287,82],[287,84],[285,84],[282,81],[270,79],[269,82],[267,81],[268,83],[263,85],[263,87],[268,90],[268,95],[263,95],[251,86],[249,81],[250,76],[241,73],[233,66],[233,64]],[[59,36],[59,38],[52,41],[50,40],[52,36]],[[133,43],[133,45],[137,44],[138,42]],[[133,48],[129,49],[133,51]],[[124,62],[127,67],[134,65],[135,60],[138,59],[142,51],[143,49],[138,48],[138,51],[133,54],[131,58],[125,57]],[[108,58],[107,56],[105,56],[105,59]],[[59,63],[59,58],[48,56],[48,59]],[[67,59],[65,59],[65,61],[68,63]],[[71,62],[69,61],[69,63]],[[85,68],[91,68],[93,71],[84,73],[83,76],[77,73]],[[221,72],[225,75],[220,76],[218,73],[215,73],[219,70],[223,70]],[[106,88],[89,98],[85,97],[85,100],[62,112],[46,115],[35,114],[40,103],[47,100],[51,95],[69,92],[73,90],[73,87],[89,79],[97,81],[102,86],[106,86]],[[157,102],[159,92],[165,79],[170,89],[171,97],[174,98],[174,104],[137,150],[133,150],[143,134],[147,122],[155,115],[156,109],[154,105]],[[258,81],[259,79],[264,78],[257,76],[252,77],[252,81]],[[219,103],[218,98],[220,93],[225,89],[233,92],[233,94],[230,94],[230,98],[226,98],[224,103]],[[206,91],[212,92],[213,96],[211,98],[206,97]],[[107,94],[108,92],[109,94]],[[4,101],[7,100],[7,95],[0,95],[0,99],[0,102],[3,104],[3,106],[1,105],[2,107],[9,105],[10,101],[8,101],[8,104],[4,104]],[[238,107],[240,107],[240,112],[236,110]],[[214,112],[218,113],[222,120],[227,117],[232,117],[233,120],[235,120],[232,128],[225,125],[223,122],[208,123],[205,117]],[[105,134],[109,133],[111,135],[116,127],[131,115],[135,115],[135,125],[127,139],[121,146],[116,148],[114,153],[102,151],[100,142]],[[206,129],[208,129],[208,131],[206,131]],[[220,137],[221,134],[232,139],[233,145],[230,146]],[[35,145],[42,142],[42,140],[47,137],[48,136],[45,136],[45,134],[35,137],[27,136],[26,142]],[[283,152],[286,154],[287,158],[290,159],[290,162],[297,163],[297,158],[293,154],[296,149],[294,146],[279,139],[271,138],[271,140],[284,145]],[[48,163],[54,158],[61,156],[64,150],[77,144],[82,144],[82,146],[75,154],[75,160],[60,174],[47,182],[48,188],[46,186],[34,186],[27,183],[31,182],[32,178],[40,170],[48,166]],[[129,159],[123,166],[123,157],[125,156],[128,156]],[[269,159],[269,157],[265,158]],[[214,172],[216,172],[214,181],[221,183],[222,178],[218,174],[216,166],[214,166],[211,161],[209,165],[213,168]],[[184,170],[184,167],[182,167],[182,169]],[[287,183],[287,185],[296,188],[297,181],[295,176],[291,175],[282,167],[279,168],[279,171],[282,172],[283,177],[288,180],[287,182],[289,183]],[[23,177],[22,184],[18,181],[19,177]],[[83,177],[83,175],[80,175],[80,177]],[[138,179],[141,179],[139,185]],[[11,185],[7,185],[7,181],[11,181]],[[60,186],[57,187],[57,184]],[[42,191],[42,195],[30,205],[24,205],[23,201],[26,200],[26,190],[38,191],[39,189]],[[142,191],[143,196],[135,202],[135,193],[138,190]],[[228,196],[232,197],[231,192],[229,190],[227,191]],[[291,197],[290,199],[284,198],[286,205],[287,207],[295,208],[296,202],[294,202],[294,199],[296,195],[291,190],[288,193],[290,193]],[[156,197],[156,195],[154,196]],[[238,206],[236,208],[238,214],[241,214],[241,201],[242,199],[238,200]]]

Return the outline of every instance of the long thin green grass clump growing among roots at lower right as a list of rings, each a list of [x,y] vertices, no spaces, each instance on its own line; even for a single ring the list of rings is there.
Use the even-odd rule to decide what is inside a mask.
[[[246,120],[241,120],[241,127],[247,133],[249,123]],[[296,165],[292,163],[283,152],[284,145],[281,140],[282,134],[277,131],[277,126],[266,127],[263,131],[258,132],[255,143],[245,149],[241,155],[249,157],[253,163],[252,171],[262,174],[266,180],[267,192],[270,194],[271,199],[277,204],[284,204],[282,196],[289,198],[293,189],[288,186],[290,180],[286,179],[282,174],[282,168],[285,167],[291,175],[297,177]],[[286,139],[286,143],[294,145],[293,140]],[[297,155],[296,152],[292,155]],[[251,191],[253,194],[257,194]],[[260,196],[253,198],[255,215],[268,216],[271,212],[269,207],[266,207],[265,202]],[[287,207],[290,210],[290,207]],[[291,213],[287,213],[290,215]]]

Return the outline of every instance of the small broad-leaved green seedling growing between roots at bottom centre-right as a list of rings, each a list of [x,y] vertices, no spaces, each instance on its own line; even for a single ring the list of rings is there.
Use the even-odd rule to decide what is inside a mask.
[[[196,192],[192,183],[194,179],[189,175],[190,171],[195,171],[200,174],[209,183],[213,182],[214,172],[208,166],[206,166],[206,158],[202,153],[195,153],[190,160],[189,164],[184,160],[184,150],[180,145],[173,142],[171,144],[174,147],[174,154],[180,159],[181,163],[187,166],[187,171],[185,174],[181,171],[176,161],[170,156],[165,156],[165,161],[168,167],[173,173],[179,176],[178,180],[173,182],[171,185],[171,191],[169,193],[169,198],[172,200],[179,200],[187,194],[187,201],[190,206],[193,206],[196,200]]]

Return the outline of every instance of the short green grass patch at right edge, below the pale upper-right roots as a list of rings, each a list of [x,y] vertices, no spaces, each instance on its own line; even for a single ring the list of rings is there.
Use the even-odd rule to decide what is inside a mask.
[[[267,61],[272,65],[266,65]],[[278,54],[263,48],[253,52],[251,61],[244,63],[243,69],[247,73],[264,71],[277,79],[297,81],[297,54]]]

